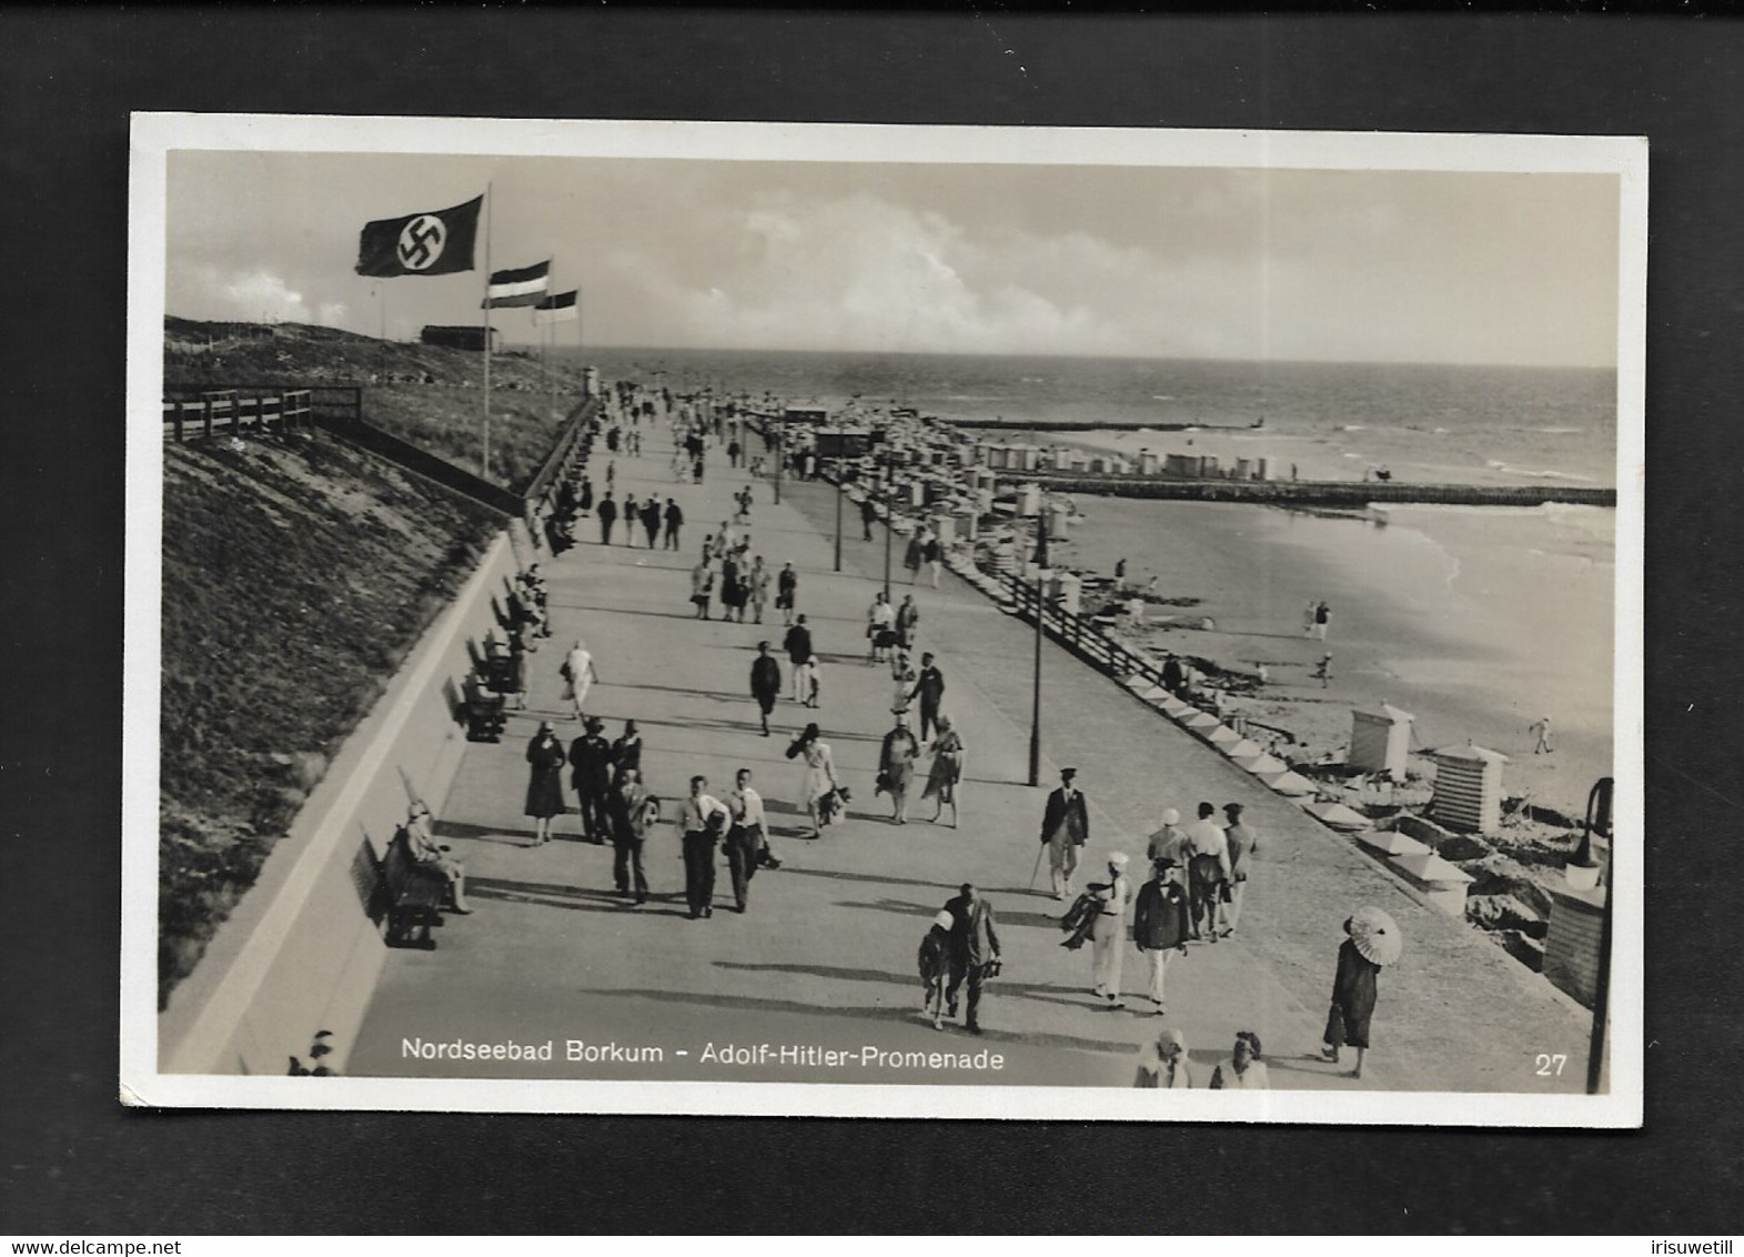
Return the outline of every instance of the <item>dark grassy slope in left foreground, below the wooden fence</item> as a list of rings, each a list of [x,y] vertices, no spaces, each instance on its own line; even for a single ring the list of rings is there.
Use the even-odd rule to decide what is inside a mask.
[[[166,445],[160,1002],[495,527],[328,436]]]

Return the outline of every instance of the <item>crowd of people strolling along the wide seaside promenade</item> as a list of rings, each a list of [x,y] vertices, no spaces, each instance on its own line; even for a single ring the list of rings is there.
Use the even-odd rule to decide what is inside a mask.
[[[609,452],[637,453],[642,448],[642,424],[664,408],[671,420],[673,474],[680,483],[701,485],[708,457],[724,448],[732,469],[755,471],[759,462],[746,450],[746,434],[736,424],[724,424],[719,411],[706,413],[684,404],[673,404],[670,394],[652,399],[619,391],[612,413],[617,420],[603,427]],[[605,420],[610,422],[610,420]],[[640,523],[647,547],[664,535],[666,549],[682,549],[680,530],[684,509],[675,497],[649,493],[642,502],[631,490],[616,493],[616,462],[605,472],[605,492],[595,500],[588,460],[596,424],[577,446],[579,459],[563,481],[551,514],[546,520],[546,537],[553,553],[574,544],[576,521],[589,513],[598,520],[598,544],[617,544],[614,528],[626,525],[624,546],[635,544],[635,527]],[[802,467],[802,464],[795,464]],[[752,539],[755,493],[745,485],[732,495],[734,511],[719,528],[705,533],[698,560],[689,568],[689,596],[696,619],[719,619],[729,624],[764,624],[771,596],[781,614],[783,636],[759,640],[750,664],[748,694],[757,704],[757,730],[771,737],[773,718],[787,694],[788,701],[807,713],[821,708],[821,669],[813,624],[800,608],[800,579],[792,561],[781,561],[776,570],[757,553]],[[865,532],[870,535],[872,514],[867,513]],[[910,584],[919,584],[930,570],[930,584],[938,586],[942,549],[938,535],[924,525],[916,530],[905,547],[903,565]],[[1329,619],[1325,605],[1315,608],[1317,619],[1305,615],[1310,635],[1324,638]],[[521,669],[525,696],[525,652],[528,635],[549,636],[544,582],[537,568],[530,570],[523,588],[516,589],[511,615],[521,631],[511,635],[509,649]],[[865,666],[888,666],[891,676],[891,725],[882,734],[877,757],[875,795],[888,797],[889,823],[909,825],[909,807],[916,788],[923,800],[933,802],[933,811],[921,819],[940,823],[949,807],[949,825],[957,826],[959,792],[964,778],[964,737],[947,710],[950,687],[938,657],[919,649],[921,607],[914,593],[903,593],[900,603],[882,589],[872,598],[865,617]],[[919,659],[916,662],[916,654]],[[783,659],[792,671],[792,682],[783,678]],[[839,657],[837,657],[839,659]],[[689,779],[678,798],[654,795],[644,781],[642,741],[635,722],[626,722],[616,741],[607,741],[603,722],[589,715],[588,703],[593,685],[600,682],[593,654],[581,638],[563,657],[560,668],[563,697],[569,715],[579,725],[567,746],[556,734],[553,720],[541,722],[539,732],[527,746],[528,785],[525,812],[534,819],[534,844],[551,840],[553,821],[577,814],[581,837],[614,847],[612,877],[616,893],[633,905],[651,898],[644,849],[651,830],[670,821],[680,833],[684,854],[684,903],[692,921],[713,917],[715,882],[722,858],[726,860],[732,907],[746,912],[750,887],[762,868],[780,868],[769,844],[769,821],[762,795],[753,785],[753,769],[745,765],[734,772],[732,786],[712,793],[703,774]],[[1186,683],[1184,680],[1181,682]],[[523,697],[525,703],[525,697]],[[823,839],[832,825],[841,823],[851,800],[851,792],[837,771],[834,750],[816,720],[807,720],[792,736],[785,757],[795,764],[794,811],[804,814],[802,837]],[[565,781],[567,778],[567,781]],[[574,804],[570,804],[574,798]],[[1039,863],[1048,861],[1048,893],[1055,901],[1067,903],[1060,924],[1069,934],[1066,947],[1090,945],[1090,992],[1097,1006],[1121,1009],[1127,1006],[1125,955],[1139,954],[1144,975],[1142,994],[1156,1016],[1168,1013],[1167,978],[1170,966],[1189,955],[1193,943],[1216,945],[1231,938],[1240,924],[1243,896],[1259,837],[1243,819],[1238,802],[1219,807],[1198,802],[1195,818],[1182,823],[1175,807],[1162,811],[1158,828],[1148,837],[1141,873],[1134,858],[1113,851],[1102,861],[1104,872],[1083,889],[1078,886],[1081,858],[1090,842],[1090,807],[1078,785],[1076,769],[1062,769],[1060,781],[1046,797],[1039,826],[1036,870],[1031,877],[1034,891]],[[464,870],[455,873],[457,894],[464,903]],[[464,910],[464,908],[462,908]],[[963,1029],[982,1034],[982,1006],[989,982],[1003,968],[998,914],[994,905],[973,886],[961,884],[930,922],[921,940],[917,969],[923,987],[923,1006],[935,1027],[961,1015]],[[1346,1046],[1357,1051],[1357,1074],[1367,1050],[1369,1018],[1374,1008],[1378,973],[1346,941],[1339,952],[1332,1009],[1325,1030],[1325,1058],[1339,1060]],[[1266,1088],[1266,1063],[1257,1034],[1240,1030],[1224,1060],[1203,1070],[1188,1057],[1186,1041],[1177,1029],[1165,1029],[1144,1048],[1137,1086],[1158,1088]]]

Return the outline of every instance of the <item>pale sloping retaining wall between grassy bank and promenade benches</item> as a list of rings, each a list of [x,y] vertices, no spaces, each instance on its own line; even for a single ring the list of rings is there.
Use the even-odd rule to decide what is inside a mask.
[[[344,1070],[387,947],[368,912],[373,866],[408,802],[438,816],[460,767],[460,683],[516,572],[499,533],[448,610],[335,755],[326,778],[159,1016],[159,1072],[284,1074],[317,1030]]]

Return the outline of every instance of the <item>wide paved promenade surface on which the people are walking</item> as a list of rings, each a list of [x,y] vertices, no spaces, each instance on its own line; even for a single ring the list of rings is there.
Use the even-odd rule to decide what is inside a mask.
[[[1385,872],[1298,807],[1228,764],[1219,753],[1139,704],[1114,682],[1048,645],[1045,649],[1043,788],[1025,783],[1032,631],[1003,615],[949,572],[940,589],[916,588],[919,645],[947,678],[945,710],[966,743],[961,826],[930,825],[931,802],[910,802],[910,823],[888,821],[875,798],[877,750],[889,727],[893,683],[884,664],[865,662],[865,608],[879,588],[884,546],[860,540],[853,504],[844,511],[841,574],[832,568],[835,492],[823,483],[783,488],[752,481],[753,554],[773,570],[800,574],[799,610],[807,615],[823,664],[820,711],[787,701],[760,737],[748,694],[760,638],[780,654],[781,617],[766,624],[694,619],[689,568],[703,535],[731,516],[729,499],[748,479],[710,453],[708,481],[673,485],[664,420],[645,432],[647,453],[617,457],[617,497],[628,488],[677,497],[685,511],[684,549],[598,544],[593,520],[582,544],[541,570],[551,591],[555,636],[530,657],[527,711],[511,713],[501,744],[467,748],[439,832],[469,870],[471,917],[436,931],[438,950],[392,952],[358,1044],[354,1076],[726,1079],[937,1084],[1132,1083],[1135,1053],[1162,1027],[1181,1029],[1209,1077],[1236,1030],[1264,1041],[1273,1090],[1484,1090],[1578,1091],[1585,1076],[1587,1015],[1540,976],[1463,922],[1418,905]],[[610,459],[591,462],[596,490]],[[621,530],[617,540],[623,540]],[[642,537],[638,533],[637,540]],[[909,591],[902,539],[893,593]],[[748,765],[771,812],[780,870],[757,873],[750,912],[731,910],[722,860],[708,921],[684,910],[678,833],[657,826],[647,844],[654,898],[631,907],[612,891],[610,847],[579,839],[579,818],[558,818],[558,840],[530,847],[521,814],[525,750],[541,718],[558,722],[567,743],[579,734],[562,701],[558,666],[582,636],[602,682],[591,715],[616,737],[626,718],[644,734],[649,786],[677,800],[694,772],[724,797]],[[788,666],[781,656],[783,678]],[[790,680],[787,694],[792,692]],[[834,746],[853,790],[842,823],[806,840],[794,797],[800,769],[783,750],[809,718]],[[926,758],[921,774],[924,779]],[[1200,800],[1247,805],[1261,839],[1240,931],[1216,945],[1195,943],[1168,975],[1168,1015],[1153,1013],[1144,971],[1127,948],[1127,1008],[1109,1011],[1090,994],[1090,948],[1059,943],[1064,905],[1046,893],[1046,870],[1029,889],[1045,792],[1057,767],[1080,769],[1092,804],[1092,842],[1078,884],[1102,873],[1104,858],[1132,854],[1134,886],[1148,875],[1146,835],[1163,805],[1191,816]],[[567,785],[567,772],[565,772]],[[675,807],[668,807],[668,818]],[[930,917],[959,882],[982,887],[998,914],[1005,973],[982,1004],[985,1034],[956,1023],[933,1030],[921,1015],[916,948]],[[1339,922],[1374,903],[1400,922],[1406,955],[1383,971],[1374,1051],[1352,1081],[1318,1060]],[[722,907],[727,905],[727,907]],[[555,1041],[548,1063],[427,1062],[403,1055],[405,1039],[443,1043]],[[565,1062],[567,1041],[654,1046],[659,1062]],[[705,1060],[713,1044],[785,1044],[855,1053],[830,1069],[780,1058],[750,1067]],[[898,1070],[862,1063],[860,1051],[949,1048],[1005,1057],[998,1072]],[[678,1053],[687,1053],[680,1057]],[[1538,1076],[1536,1053],[1568,1053],[1561,1076]],[[1346,1067],[1350,1053],[1346,1051]]]

